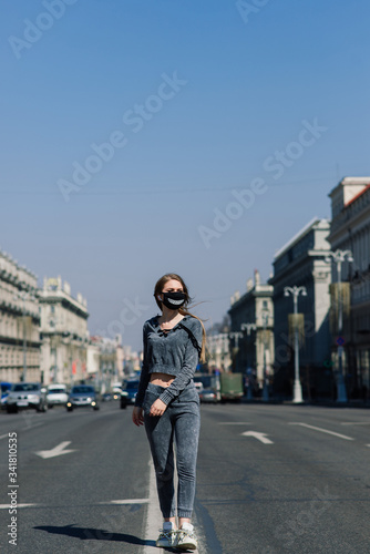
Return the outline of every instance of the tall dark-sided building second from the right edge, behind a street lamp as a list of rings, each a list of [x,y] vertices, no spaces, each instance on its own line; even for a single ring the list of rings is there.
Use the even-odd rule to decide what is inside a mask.
[[[330,222],[315,217],[274,258],[275,310],[275,392],[290,394],[294,382],[294,329],[289,330],[289,315],[294,314],[294,298],[285,295],[285,287],[305,287],[297,297],[297,309],[304,315],[304,339],[300,335],[299,366],[304,393],[330,394],[329,309],[331,283],[328,242]],[[301,293],[305,293],[301,290]]]

